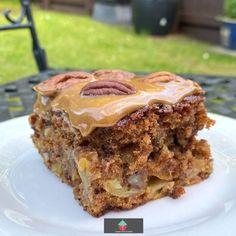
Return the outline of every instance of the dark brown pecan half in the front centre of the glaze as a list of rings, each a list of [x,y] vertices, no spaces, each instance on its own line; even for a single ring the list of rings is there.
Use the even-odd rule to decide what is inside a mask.
[[[119,80],[99,80],[85,85],[81,90],[82,96],[131,95],[135,88]]]

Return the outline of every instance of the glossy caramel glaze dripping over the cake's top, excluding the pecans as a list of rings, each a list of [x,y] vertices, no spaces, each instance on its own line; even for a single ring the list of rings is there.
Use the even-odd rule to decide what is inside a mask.
[[[77,83],[49,99],[38,94],[34,110],[37,113],[63,110],[73,127],[78,128],[83,136],[89,135],[97,127],[111,127],[126,115],[154,103],[175,104],[184,97],[202,92],[200,87],[190,80],[173,80],[167,83],[147,83],[143,78],[126,81],[135,87],[137,93],[119,96],[80,96],[81,89],[88,81]]]

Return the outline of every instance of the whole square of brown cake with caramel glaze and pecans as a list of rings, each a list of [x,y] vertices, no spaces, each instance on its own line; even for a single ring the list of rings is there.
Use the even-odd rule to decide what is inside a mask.
[[[57,75],[34,90],[33,142],[93,216],[178,198],[212,173],[210,147],[196,134],[214,121],[193,81],[99,70]]]

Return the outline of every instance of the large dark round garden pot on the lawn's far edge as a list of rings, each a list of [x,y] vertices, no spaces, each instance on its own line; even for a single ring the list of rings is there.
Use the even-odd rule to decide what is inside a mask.
[[[133,23],[135,31],[152,35],[171,32],[177,13],[178,0],[133,0]]]

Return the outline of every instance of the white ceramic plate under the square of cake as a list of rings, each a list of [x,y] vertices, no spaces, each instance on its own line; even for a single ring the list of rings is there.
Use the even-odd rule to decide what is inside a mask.
[[[143,218],[144,235],[235,235],[236,120],[210,116],[217,124],[199,135],[212,146],[208,180],[178,200],[163,198],[105,217]],[[0,123],[0,235],[103,235],[104,217],[84,212],[72,189],[46,169],[31,132],[27,117]]]

